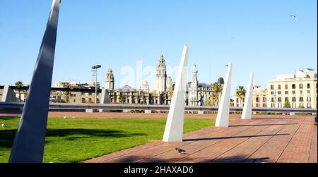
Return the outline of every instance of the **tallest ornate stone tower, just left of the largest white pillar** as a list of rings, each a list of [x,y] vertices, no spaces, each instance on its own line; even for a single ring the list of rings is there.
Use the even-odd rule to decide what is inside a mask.
[[[156,90],[158,93],[165,92],[167,89],[167,71],[165,66],[165,59],[163,54],[159,57],[159,62],[157,66],[157,80],[156,80]]]

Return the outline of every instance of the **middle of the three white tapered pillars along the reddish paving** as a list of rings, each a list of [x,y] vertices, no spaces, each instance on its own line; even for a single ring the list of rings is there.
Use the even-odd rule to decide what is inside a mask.
[[[230,91],[231,91],[232,63],[228,63],[228,73],[226,73],[223,93],[218,106],[218,116],[216,117],[216,127],[228,127],[230,116]]]

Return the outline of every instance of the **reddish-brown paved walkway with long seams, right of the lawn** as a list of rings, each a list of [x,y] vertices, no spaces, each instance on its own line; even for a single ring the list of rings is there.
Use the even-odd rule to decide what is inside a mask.
[[[83,162],[317,163],[317,126],[314,116],[254,116],[187,133],[183,142],[149,142]]]

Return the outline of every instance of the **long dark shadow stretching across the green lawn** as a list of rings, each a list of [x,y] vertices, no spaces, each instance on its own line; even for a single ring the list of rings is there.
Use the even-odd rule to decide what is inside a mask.
[[[123,130],[99,130],[99,129],[47,129],[46,137],[61,137],[64,140],[75,141],[78,139],[100,137],[100,138],[125,138],[133,136],[145,136],[146,133],[128,133]],[[16,130],[0,131],[0,147],[11,148]],[[46,140],[45,144],[50,141]]]

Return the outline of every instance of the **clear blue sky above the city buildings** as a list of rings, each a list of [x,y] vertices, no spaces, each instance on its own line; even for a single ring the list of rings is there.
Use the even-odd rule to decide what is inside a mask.
[[[30,84],[51,4],[0,1],[0,85]],[[233,90],[251,71],[262,87],[278,73],[317,72],[317,0],[62,0],[52,82],[86,83],[100,64],[102,86],[111,66],[119,87],[123,66],[155,66],[160,54],[178,66],[184,44],[200,83],[225,77],[231,61]]]

